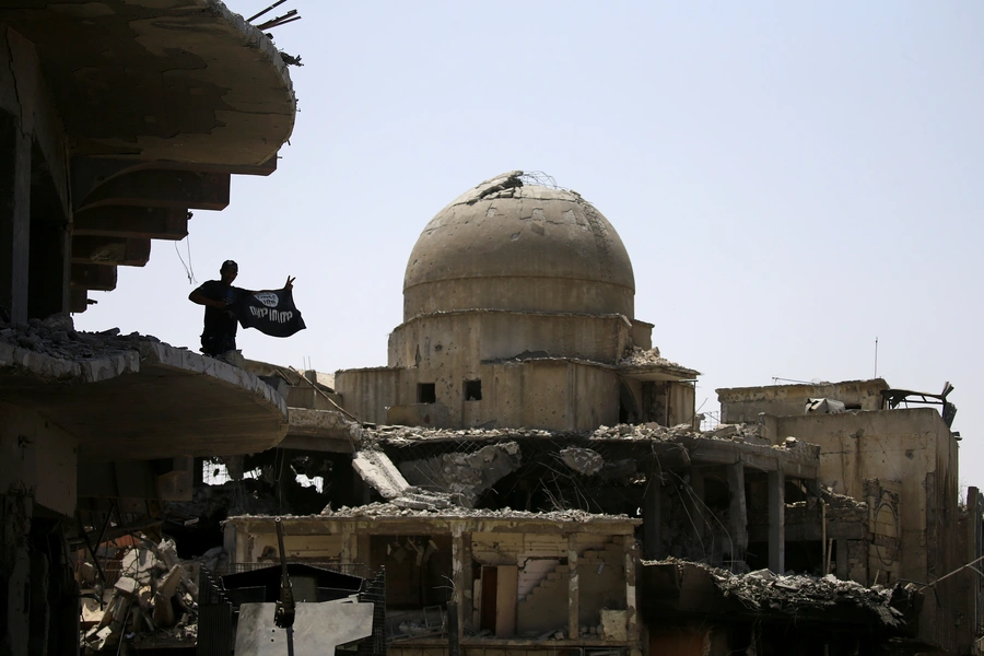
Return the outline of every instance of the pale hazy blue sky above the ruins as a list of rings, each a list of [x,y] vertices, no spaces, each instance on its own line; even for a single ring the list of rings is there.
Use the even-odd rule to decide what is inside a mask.
[[[268,0],[231,0],[244,15]],[[590,200],[632,258],[636,317],[714,389],[773,377],[956,386],[961,482],[984,485],[984,4],[321,2],[273,30],[302,57],[291,144],[179,243],[198,282],[296,276],[308,329],[247,358],[386,364],[427,221],[499,173]],[[274,15],[274,14],[270,14]],[[175,245],[75,315],[198,349]]]

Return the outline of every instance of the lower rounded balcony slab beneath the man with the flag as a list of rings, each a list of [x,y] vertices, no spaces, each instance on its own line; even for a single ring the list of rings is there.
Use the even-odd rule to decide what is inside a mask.
[[[0,342],[0,399],[75,436],[80,462],[256,453],[288,430],[283,398],[253,374],[152,340],[94,360]]]

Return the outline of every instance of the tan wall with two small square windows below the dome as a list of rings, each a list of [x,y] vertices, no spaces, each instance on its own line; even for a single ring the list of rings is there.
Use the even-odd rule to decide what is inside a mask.
[[[467,380],[481,380],[481,400],[468,400]],[[433,402],[418,402],[419,384],[434,385]],[[477,364],[458,371],[440,362],[349,370],[337,373],[336,385],[345,410],[379,424],[581,431],[612,425],[619,417],[617,372],[567,360]]]

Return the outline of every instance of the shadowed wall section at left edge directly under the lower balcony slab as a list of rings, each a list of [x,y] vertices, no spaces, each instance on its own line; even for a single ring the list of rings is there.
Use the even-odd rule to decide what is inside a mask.
[[[33,493],[34,503],[75,512],[78,441],[39,413],[0,402],[0,491]]]

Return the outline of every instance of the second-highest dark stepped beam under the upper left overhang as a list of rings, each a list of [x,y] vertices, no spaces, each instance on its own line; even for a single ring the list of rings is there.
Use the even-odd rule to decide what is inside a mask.
[[[75,236],[131,237],[179,242],[188,236],[188,208],[105,206],[75,212]]]

